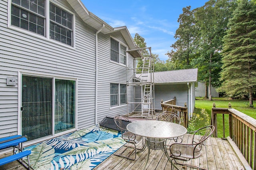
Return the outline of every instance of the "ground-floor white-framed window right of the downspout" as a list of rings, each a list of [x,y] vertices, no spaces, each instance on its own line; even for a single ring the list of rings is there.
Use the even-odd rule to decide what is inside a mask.
[[[110,107],[126,104],[126,84],[110,83]]]

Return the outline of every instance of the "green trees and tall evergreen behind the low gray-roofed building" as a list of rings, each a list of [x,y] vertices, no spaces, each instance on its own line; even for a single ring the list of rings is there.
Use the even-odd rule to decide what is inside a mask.
[[[155,71],[198,68],[204,81],[234,98],[250,99],[256,92],[256,0],[209,0],[178,18],[176,42],[164,62],[155,55]],[[134,41],[146,47],[138,34]],[[207,88],[206,88],[207,89]],[[208,92],[206,92],[206,98]]]

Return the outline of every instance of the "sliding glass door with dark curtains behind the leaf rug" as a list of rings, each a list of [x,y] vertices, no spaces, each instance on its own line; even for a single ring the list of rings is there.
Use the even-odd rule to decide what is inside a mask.
[[[31,141],[74,129],[75,84],[75,80],[22,75],[22,135]]]

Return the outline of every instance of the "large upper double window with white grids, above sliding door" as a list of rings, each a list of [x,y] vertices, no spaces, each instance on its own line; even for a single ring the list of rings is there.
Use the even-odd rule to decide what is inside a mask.
[[[48,21],[49,28],[46,27]],[[52,3],[48,9],[46,0],[12,0],[11,25],[15,27],[44,37],[49,35],[48,39],[72,46],[73,23],[73,14]]]

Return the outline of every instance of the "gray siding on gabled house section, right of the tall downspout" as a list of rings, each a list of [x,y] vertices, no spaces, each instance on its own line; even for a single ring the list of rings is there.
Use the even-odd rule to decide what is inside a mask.
[[[104,35],[99,33],[99,51],[98,51],[98,121],[105,116],[113,117],[116,114],[127,113],[127,105],[110,107],[110,83],[126,84],[126,66],[110,61],[110,37],[125,45],[128,45],[120,32]],[[127,54],[128,67],[133,66],[133,57]],[[131,71],[128,75],[131,75]],[[128,86],[128,101],[134,100],[134,88]],[[129,105],[129,110],[134,106]]]

